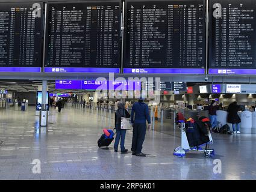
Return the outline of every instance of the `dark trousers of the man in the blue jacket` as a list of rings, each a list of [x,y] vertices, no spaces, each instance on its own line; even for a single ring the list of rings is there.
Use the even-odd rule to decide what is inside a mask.
[[[133,143],[131,145],[131,151],[136,154],[142,152],[142,145],[146,135],[146,123],[145,124],[133,124]]]

